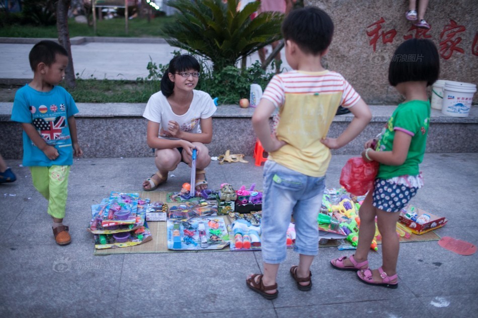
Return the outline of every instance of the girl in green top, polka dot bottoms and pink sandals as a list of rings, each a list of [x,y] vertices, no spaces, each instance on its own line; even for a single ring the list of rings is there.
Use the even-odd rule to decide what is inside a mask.
[[[374,189],[359,210],[357,251],[331,261],[336,269],[357,271],[358,278],[366,284],[398,286],[396,222],[400,211],[423,185],[418,165],[423,160],[430,125],[427,86],[437,80],[439,71],[438,51],[429,40],[405,41],[392,56],[388,81],[405,96],[405,101],[388,119],[381,138],[367,141],[362,152],[366,161],[377,161],[380,167]],[[375,217],[382,236],[382,266],[371,270],[367,256],[375,234]]]

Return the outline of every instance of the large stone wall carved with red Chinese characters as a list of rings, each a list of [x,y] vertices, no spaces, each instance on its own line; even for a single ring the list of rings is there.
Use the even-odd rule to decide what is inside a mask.
[[[401,96],[388,84],[388,63],[405,39],[429,38],[440,54],[440,79],[478,83],[478,3],[430,1],[430,30],[405,19],[407,0],[305,0],[325,10],[335,34],[324,66],[337,71],[369,104],[396,104]],[[473,104],[478,103],[478,93]]]

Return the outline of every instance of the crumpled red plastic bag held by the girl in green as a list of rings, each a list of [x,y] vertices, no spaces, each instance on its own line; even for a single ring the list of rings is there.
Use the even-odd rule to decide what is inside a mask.
[[[373,188],[378,172],[378,162],[365,162],[362,157],[352,157],[342,168],[340,185],[354,195],[364,195]]]

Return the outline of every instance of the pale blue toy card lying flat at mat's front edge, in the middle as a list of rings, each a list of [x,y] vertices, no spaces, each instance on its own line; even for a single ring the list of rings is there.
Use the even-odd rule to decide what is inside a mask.
[[[224,217],[167,221],[168,249],[219,250],[229,245]]]

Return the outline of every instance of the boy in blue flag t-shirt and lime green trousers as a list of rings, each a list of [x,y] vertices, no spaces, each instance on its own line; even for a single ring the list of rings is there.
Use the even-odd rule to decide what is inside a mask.
[[[23,128],[23,165],[30,167],[33,185],[47,200],[53,235],[59,245],[71,242],[63,225],[68,174],[73,155],[82,156],[76,137],[71,95],[57,86],[65,76],[68,53],[56,42],[41,41],[29,54],[33,80],[15,94],[12,121]]]

